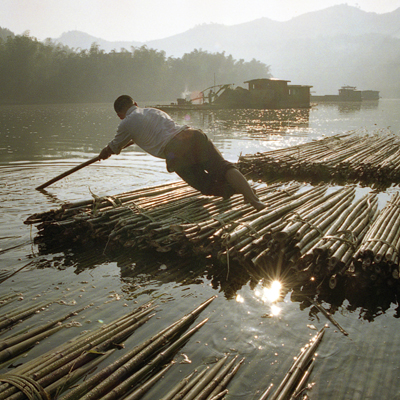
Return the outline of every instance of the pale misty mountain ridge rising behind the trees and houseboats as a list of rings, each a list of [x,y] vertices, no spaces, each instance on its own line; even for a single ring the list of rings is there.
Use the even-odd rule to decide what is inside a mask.
[[[173,57],[194,49],[225,52],[262,61],[275,77],[312,85],[318,94],[336,94],[346,84],[400,97],[400,8],[376,14],[343,4],[285,22],[260,18],[234,26],[203,24],[148,42],[109,42],[78,31],[54,41],[82,49],[95,42],[106,52],[146,45]]]

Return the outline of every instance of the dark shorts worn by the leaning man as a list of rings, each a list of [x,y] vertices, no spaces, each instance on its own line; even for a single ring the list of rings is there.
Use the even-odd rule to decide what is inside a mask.
[[[236,168],[225,160],[207,135],[188,128],[167,144],[164,154],[169,172],[175,171],[190,186],[209,196],[229,198],[235,190],[226,181],[226,171]]]

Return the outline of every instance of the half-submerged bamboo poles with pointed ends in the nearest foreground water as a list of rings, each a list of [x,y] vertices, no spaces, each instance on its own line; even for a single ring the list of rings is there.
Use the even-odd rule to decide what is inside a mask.
[[[10,305],[18,297],[8,294],[0,297],[0,306]],[[177,352],[199,331],[208,318],[196,322],[200,314],[216,296],[204,301],[166,328],[138,343],[133,348],[123,342],[156,315],[156,306],[149,302],[105,326],[82,332],[72,340],[24,361],[12,372],[0,374],[0,399],[4,400],[83,400],[116,399],[138,400],[155,386],[162,393],[159,400],[217,400],[225,398],[229,383],[235,377],[244,358],[226,353],[212,365],[196,367],[179,381],[163,385],[163,377],[177,367]],[[62,317],[31,329],[13,332],[22,320],[43,311],[56,301],[41,302],[34,306],[16,307],[0,315],[0,370],[8,363],[23,357],[22,353],[57,332],[74,326],[74,317],[90,306],[74,310]],[[195,323],[195,326],[192,326]],[[79,326],[76,325],[76,326]],[[11,332],[10,332],[11,331]],[[315,352],[325,327],[302,347],[288,373],[275,390],[273,399],[297,398],[306,389],[307,379],[315,364]],[[119,351],[119,357],[108,361]],[[106,364],[107,363],[107,364]],[[266,377],[266,379],[268,379]],[[165,390],[167,386],[167,390]],[[261,385],[261,387],[267,386]],[[262,394],[265,400],[272,384]],[[291,397],[292,398],[292,397]]]

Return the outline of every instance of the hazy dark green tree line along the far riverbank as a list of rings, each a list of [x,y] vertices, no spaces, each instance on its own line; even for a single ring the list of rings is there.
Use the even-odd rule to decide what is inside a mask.
[[[242,84],[270,77],[269,66],[234,60],[225,53],[194,50],[182,58],[146,46],[105,53],[39,42],[29,34],[0,39],[0,103],[110,102],[120,94],[136,100],[175,100],[184,91]]]

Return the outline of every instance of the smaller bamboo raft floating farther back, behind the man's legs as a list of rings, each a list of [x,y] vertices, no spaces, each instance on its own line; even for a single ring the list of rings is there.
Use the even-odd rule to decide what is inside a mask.
[[[378,188],[400,183],[400,139],[391,132],[350,132],[239,158],[241,171],[262,178],[362,183]]]

